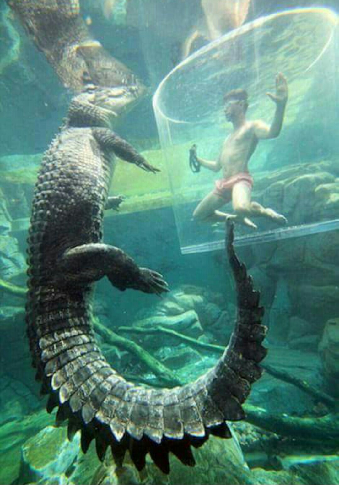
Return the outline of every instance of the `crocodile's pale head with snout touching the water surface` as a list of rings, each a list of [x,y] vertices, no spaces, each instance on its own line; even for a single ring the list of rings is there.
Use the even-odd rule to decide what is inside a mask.
[[[87,84],[83,91],[72,98],[68,121],[73,126],[114,125],[121,114],[129,111],[140,100],[137,84],[129,86],[102,87]]]

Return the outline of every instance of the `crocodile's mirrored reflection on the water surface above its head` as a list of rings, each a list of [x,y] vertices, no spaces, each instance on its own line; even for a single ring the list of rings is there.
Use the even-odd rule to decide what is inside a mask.
[[[120,88],[115,114],[126,113],[146,94],[140,79],[94,39],[79,0],[6,0],[66,88],[80,93],[89,82]]]

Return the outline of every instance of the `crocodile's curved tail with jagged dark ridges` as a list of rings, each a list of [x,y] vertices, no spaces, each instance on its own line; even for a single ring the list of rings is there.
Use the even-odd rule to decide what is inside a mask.
[[[233,226],[227,226],[227,253],[236,282],[238,315],[234,333],[216,366],[195,382],[173,389],[135,386],[117,374],[98,349],[86,326],[62,330],[40,339],[50,396],[47,409],[58,406],[57,422],[68,419],[68,437],[81,430],[81,447],[95,440],[99,459],[108,447],[118,464],[129,450],[137,469],[150,454],[169,472],[169,453],[194,465],[191,447],[210,435],[231,437],[226,420],[244,418],[242,403],[251,384],[261,375],[259,362],[266,355],[261,342],[263,308],[252,279],[233,249]],[[53,339],[53,343],[50,340]]]

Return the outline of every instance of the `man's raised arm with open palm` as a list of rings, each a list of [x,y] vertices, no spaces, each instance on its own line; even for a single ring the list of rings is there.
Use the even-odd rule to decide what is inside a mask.
[[[254,133],[259,140],[276,138],[282,128],[286,103],[288,99],[288,85],[283,74],[279,73],[275,78],[276,94],[267,93],[267,96],[276,104],[274,119],[271,126],[261,120],[254,121]]]

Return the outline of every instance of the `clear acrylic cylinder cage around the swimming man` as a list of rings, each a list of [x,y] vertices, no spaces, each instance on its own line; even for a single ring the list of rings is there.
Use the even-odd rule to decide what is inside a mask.
[[[326,158],[334,161],[337,157],[339,165],[337,25],[338,16],[321,8],[261,17],[198,50],[161,81],[153,97],[153,108],[168,167],[182,253],[210,251],[224,244],[222,228],[192,219],[194,208],[211,192],[214,180],[222,178],[222,173],[205,168],[198,174],[192,173],[188,161],[189,148],[194,143],[198,156],[217,159],[231,130],[223,112],[223,95],[230,89],[242,87],[248,91],[248,119],[270,123],[275,105],[266,92],[274,92],[277,72],[283,72],[289,83],[282,133],[275,140],[260,141],[249,162],[254,177],[253,200],[263,200],[268,189],[265,180],[267,185],[274,177],[279,179],[279,169],[290,168],[293,172],[292,166],[299,167],[296,170],[302,176],[304,163],[306,174],[310,172],[310,162],[323,162]],[[307,199],[307,190],[315,188],[307,189],[306,184],[304,190]],[[284,210],[284,204],[273,209]],[[226,212],[230,211],[231,206],[226,206]],[[333,210],[318,215],[309,210],[302,219],[300,213],[288,215],[289,225],[284,228],[263,219],[256,220],[259,229],[255,233],[240,227],[238,243],[284,239],[339,227]]]

